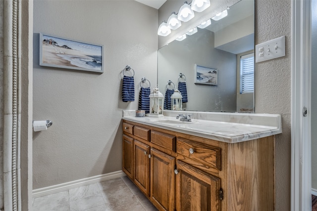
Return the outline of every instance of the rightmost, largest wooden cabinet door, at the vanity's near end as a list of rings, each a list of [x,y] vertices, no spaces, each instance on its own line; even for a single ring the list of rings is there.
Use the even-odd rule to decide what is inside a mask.
[[[176,210],[220,211],[220,179],[177,161]]]

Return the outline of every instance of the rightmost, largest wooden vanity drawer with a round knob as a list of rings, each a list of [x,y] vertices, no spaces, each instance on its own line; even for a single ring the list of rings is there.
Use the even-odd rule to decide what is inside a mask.
[[[176,152],[211,168],[221,170],[221,149],[202,143],[177,139]]]

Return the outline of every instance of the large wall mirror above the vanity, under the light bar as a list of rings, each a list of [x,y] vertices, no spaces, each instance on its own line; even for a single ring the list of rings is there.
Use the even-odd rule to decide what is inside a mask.
[[[197,28],[195,34],[158,50],[160,91],[165,94],[186,79],[188,102],[182,103],[183,110],[254,112],[254,92],[246,89],[242,93],[240,70],[241,61],[249,57],[254,67],[254,1],[226,6],[226,17],[211,19],[207,28]]]

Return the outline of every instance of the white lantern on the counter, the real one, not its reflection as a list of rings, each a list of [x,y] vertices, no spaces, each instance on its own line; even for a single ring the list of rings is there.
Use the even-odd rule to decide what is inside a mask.
[[[163,99],[164,96],[159,91],[159,87],[154,88],[153,92],[149,95],[150,98],[150,113],[147,116],[160,117],[163,116]]]

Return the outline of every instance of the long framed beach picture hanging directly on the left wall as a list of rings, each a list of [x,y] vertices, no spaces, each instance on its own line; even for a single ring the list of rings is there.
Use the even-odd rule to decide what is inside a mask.
[[[103,46],[40,34],[40,65],[104,72]]]

